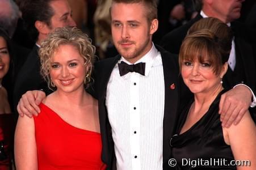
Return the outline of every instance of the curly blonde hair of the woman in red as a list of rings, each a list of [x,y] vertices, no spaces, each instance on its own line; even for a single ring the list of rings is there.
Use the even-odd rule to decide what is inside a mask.
[[[91,39],[76,27],[56,28],[49,33],[47,39],[41,42],[39,57],[41,61],[40,73],[47,81],[48,87],[53,90],[51,85],[50,69],[51,59],[54,52],[60,45],[73,45],[85,60],[85,67],[89,68],[86,73],[85,87],[87,88],[91,80],[91,72],[95,60],[95,46],[91,44]]]

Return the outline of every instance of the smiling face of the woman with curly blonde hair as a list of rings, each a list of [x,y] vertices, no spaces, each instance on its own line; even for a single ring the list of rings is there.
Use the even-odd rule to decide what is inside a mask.
[[[73,45],[60,45],[52,56],[50,76],[58,91],[73,92],[83,89],[86,66]]]

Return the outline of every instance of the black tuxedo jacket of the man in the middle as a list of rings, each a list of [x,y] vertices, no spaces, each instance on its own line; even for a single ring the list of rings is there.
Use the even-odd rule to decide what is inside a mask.
[[[169,141],[173,135],[175,122],[177,120],[178,105],[181,100],[181,79],[179,78],[179,67],[177,56],[170,54],[157,46],[161,52],[163,63],[163,74],[165,80],[165,112],[163,117],[163,167],[168,168],[168,159],[170,156]],[[99,120],[100,132],[102,135],[102,160],[112,167],[115,162],[114,142],[111,134],[111,125],[108,121],[108,113],[106,108],[106,90],[108,80],[120,55],[114,58],[104,59],[95,64],[95,91],[97,92],[99,101]],[[175,84],[175,88],[170,88],[171,84]],[[114,163],[115,166],[115,163]],[[165,168],[165,169],[166,169]]]

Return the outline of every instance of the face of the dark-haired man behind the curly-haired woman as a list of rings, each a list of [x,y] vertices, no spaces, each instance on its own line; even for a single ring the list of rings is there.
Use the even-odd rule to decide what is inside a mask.
[[[54,11],[54,15],[51,18],[50,29],[58,27],[75,27],[76,24],[72,19],[72,11],[66,0],[55,0],[50,2],[50,6]]]

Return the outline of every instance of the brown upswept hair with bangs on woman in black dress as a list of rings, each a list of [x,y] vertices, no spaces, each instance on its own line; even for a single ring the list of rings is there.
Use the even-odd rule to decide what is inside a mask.
[[[228,61],[233,33],[225,23],[216,18],[204,18],[188,30],[179,51],[179,66],[182,61],[208,61],[213,72],[220,74]]]

